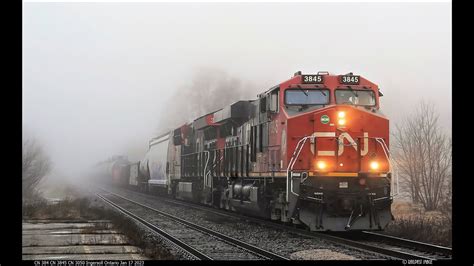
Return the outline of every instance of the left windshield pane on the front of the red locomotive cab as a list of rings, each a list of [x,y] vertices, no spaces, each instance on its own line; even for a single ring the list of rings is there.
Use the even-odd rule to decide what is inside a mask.
[[[329,90],[298,89],[285,91],[285,104],[324,105],[329,103]]]

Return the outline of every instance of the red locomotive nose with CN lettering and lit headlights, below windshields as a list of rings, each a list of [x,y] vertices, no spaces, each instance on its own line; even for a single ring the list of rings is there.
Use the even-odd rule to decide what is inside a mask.
[[[378,173],[389,170],[388,120],[354,106],[315,112],[312,169],[319,172]],[[385,145],[384,144],[384,145]]]

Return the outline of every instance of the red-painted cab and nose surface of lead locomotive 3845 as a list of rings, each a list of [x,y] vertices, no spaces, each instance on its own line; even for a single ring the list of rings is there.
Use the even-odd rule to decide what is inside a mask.
[[[369,164],[375,161],[380,164],[378,172],[388,172],[389,163],[381,144],[375,138],[381,138],[389,145],[389,121],[376,113],[379,110],[378,86],[361,77],[359,85],[350,85],[352,90],[372,91],[375,105],[367,110],[348,104],[337,104],[336,89],[348,90],[348,85],[339,82],[338,75],[325,75],[324,83],[302,84],[302,76],[295,76],[280,84],[280,112],[275,117],[277,130],[270,139],[281,145],[282,132],[286,132],[286,149],[282,149],[282,170],[286,169],[298,141],[304,136],[316,136],[315,143],[305,145],[293,169],[316,171],[319,174],[328,172],[369,173]],[[313,111],[290,115],[285,110],[285,91],[301,87],[301,89],[327,89],[329,104]],[[298,88],[299,89],[299,88]],[[344,126],[338,125],[338,113],[345,113]],[[328,123],[322,123],[323,116],[329,117]],[[272,133],[270,133],[272,135]],[[343,141],[343,144],[338,144]],[[367,142],[367,144],[366,144]],[[353,144],[356,145],[353,145]],[[352,144],[352,145],[351,145]],[[311,149],[313,146],[313,149]],[[368,150],[365,150],[365,149]],[[361,150],[362,149],[362,150]],[[289,151],[289,152],[286,152]],[[363,153],[359,156],[358,151]],[[318,171],[316,163],[323,161],[327,167]]]

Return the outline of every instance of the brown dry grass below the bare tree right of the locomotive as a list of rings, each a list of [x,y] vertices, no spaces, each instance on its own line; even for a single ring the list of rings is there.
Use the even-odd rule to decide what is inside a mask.
[[[442,212],[425,212],[408,202],[394,202],[392,221],[385,233],[441,246],[452,245],[452,223]]]

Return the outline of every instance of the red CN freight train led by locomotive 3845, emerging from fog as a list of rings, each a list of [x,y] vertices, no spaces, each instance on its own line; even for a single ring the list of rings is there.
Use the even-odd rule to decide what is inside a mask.
[[[352,73],[297,72],[152,139],[134,184],[312,231],[382,230],[393,217],[380,96]]]

